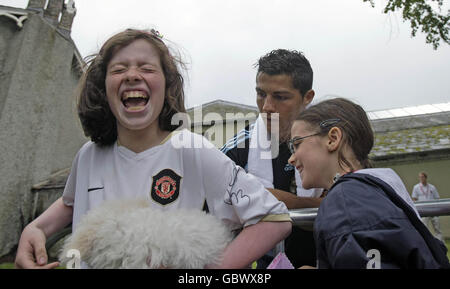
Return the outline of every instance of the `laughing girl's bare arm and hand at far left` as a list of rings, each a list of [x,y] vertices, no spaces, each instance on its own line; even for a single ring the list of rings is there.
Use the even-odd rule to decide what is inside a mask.
[[[72,213],[73,208],[66,206],[62,198],[59,198],[42,215],[28,224],[20,237],[15,260],[16,267],[29,269],[57,267],[59,262],[47,264],[45,241],[49,236],[70,224]]]

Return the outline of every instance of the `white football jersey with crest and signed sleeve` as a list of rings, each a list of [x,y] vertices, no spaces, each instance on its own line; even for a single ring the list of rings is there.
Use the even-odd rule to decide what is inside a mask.
[[[87,142],[76,155],[63,193],[73,206],[73,229],[105,200],[147,198],[160,210],[209,212],[232,230],[263,221],[290,221],[279,202],[258,180],[236,166],[204,137],[184,129],[160,145],[134,153],[117,142]]]

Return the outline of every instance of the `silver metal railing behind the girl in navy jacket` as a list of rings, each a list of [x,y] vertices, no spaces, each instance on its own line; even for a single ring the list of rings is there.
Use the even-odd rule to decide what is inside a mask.
[[[415,202],[421,217],[450,216],[450,199]],[[318,208],[289,210],[294,226],[312,230]]]

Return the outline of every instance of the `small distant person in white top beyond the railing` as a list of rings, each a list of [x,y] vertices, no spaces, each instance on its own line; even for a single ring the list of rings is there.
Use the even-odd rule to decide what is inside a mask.
[[[429,184],[427,182],[427,178],[428,176],[425,172],[419,173],[420,182],[414,186],[411,196],[413,201],[431,201],[439,199],[439,193],[436,187],[433,186],[432,184]],[[423,217],[422,222],[427,227],[429,227],[431,222],[431,224],[433,225],[434,232],[436,233],[436,238],[444,242],[444,239],[442,238],[442,231],[441,226],[439,224],[438,216]]]

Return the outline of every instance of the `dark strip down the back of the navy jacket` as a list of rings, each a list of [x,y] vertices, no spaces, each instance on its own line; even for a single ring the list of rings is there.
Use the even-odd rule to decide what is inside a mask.
[[[361,182],[381,188],[386,193],[388,198],[406,214],[409,221],[413,224],[414,228],[416,228],[416,230],[425,240],[425,243],[428,245],[428,248],[433,254],[434,259],[442,266],[442,268],[450,269],[450,263],[446,255],[447,247],[431,234],[425,224],[422,223],[419,217],[417,217],[417,214],[413,210],[413,208],[411,208],[411,206],[406,203],[406,201],[403,200],[402,197],[400,197],[389,184],[372,175],[350,173],[340,177],[333,186],[348,179],[356,179]]]

